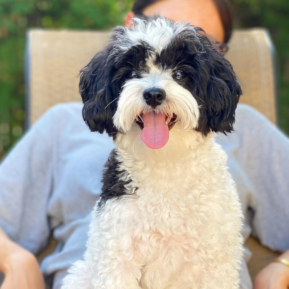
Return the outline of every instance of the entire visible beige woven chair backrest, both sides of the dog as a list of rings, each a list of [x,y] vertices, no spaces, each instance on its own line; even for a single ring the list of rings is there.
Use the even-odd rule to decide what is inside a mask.
[[[79,71],[105,47],[110,32],[33,29],[28,33],[29,124],[54,104],[81,101]],[[236,30],[226,58],[243,89],[240,102],[276,123],[272,43],[266,30]]]

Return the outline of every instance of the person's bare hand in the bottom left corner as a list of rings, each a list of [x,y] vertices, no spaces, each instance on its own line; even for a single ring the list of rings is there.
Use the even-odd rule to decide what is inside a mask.
[[[5,275],[1,289],[45,289],[35,256],[12,241],[0,247],[0,272]]]

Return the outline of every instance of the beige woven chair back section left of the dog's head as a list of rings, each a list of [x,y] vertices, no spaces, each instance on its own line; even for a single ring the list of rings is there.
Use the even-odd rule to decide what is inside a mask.
[[[79,71],[106,46],[109,36],[100,31],[29,31],[29,124],[55,104],[81,101]]]

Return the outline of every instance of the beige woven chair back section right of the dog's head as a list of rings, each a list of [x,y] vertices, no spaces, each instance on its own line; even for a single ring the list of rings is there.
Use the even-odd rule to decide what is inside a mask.
[[[274,54],[267,30],[255,28],[233,33],[226,58],[243,90],[240,102],[253,106],[276,124]]]

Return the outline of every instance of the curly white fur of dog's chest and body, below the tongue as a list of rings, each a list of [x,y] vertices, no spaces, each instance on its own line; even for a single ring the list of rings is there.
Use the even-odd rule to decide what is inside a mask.
[[[66,277],[89,285],[64,288],[238,288],[241,211],[213,136],[172,133],[158,152],[134,138],[116,140],[127,194],[96,206],[85,261]]]

